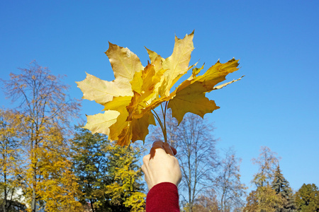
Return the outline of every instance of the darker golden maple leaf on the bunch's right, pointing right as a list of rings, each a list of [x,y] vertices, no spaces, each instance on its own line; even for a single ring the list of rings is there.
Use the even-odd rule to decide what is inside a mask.
[[[230,83],[230,81],[221,86],[216,86],[221,81],[225,80],[225,76],[228,73],[237,71],[238,60],[231,59],[225,64],[220,64],[218,61],[215,65],[211,66],[202,76],[196,76],[200,69],[194,69],[191,78],[184,81],[174,90],[172,93],[174,96],[172,100],[169,100],[168,107],[172,110],[172,116],[180,123],[186,112],[192,112],[203,117],[208,112],[213,112],[220,107],[216,106],[213,100],[208,100],[205,97],[205,93],[211,90],[223,88]],[[236,81],[240,80],[237,79]],[[183,105],[183,107],[180,107]]]

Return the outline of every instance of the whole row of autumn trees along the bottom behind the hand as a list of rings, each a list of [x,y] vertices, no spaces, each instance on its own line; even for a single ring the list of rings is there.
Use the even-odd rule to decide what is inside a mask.
[[[145,210],[144,147],[114,146],[103,134],[73,126],[79,100],[69,98],[62,76],[36,62],[1,81],[15,107],[0,110],[0,211]],[[259,170],[247,194],[240,158],[233,148],[216,149],[211,124],[194,114],[179,125],[167,114],[166,122],[183,175],[181,211],[319,211],[318,187],[293,192],[269,148],[252,160]],[[158,139],[155,126],[147,142]]]

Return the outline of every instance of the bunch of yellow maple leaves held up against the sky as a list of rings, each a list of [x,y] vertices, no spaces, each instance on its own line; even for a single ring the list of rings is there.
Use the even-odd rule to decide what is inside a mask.
[[[86,116],[87,124],[84,128],[93,134],[107,134],[111,141],[128,146],[130,142],[144,142],[149,133],[148,126],[155,125],[157,119],[166,141],[167,108],[172,110],[172,116],[179,123],[186,112],[203,117],[204,114],[218,109],[216,103],[206,98],[205,94],[240,80],[239,78],[216,86],[225,80],[228,73],[238,70],[238,60],[231,59],[225,64],[217,61],[203,75],[198,76],[203,66],[189,66],[194,49],[193,37],[194,32],[183,39],[175,37],[173,53],[167,59],[147,49],[150,61],[145,67],[138,56],[128,48],[109,43],[106,55],[111,62],[115,80],[103,81],[86,73],[84,81],[77,82],[84,99],[94,100],[104,107],[103,114]],[[192,71],[191,76],[171,93],[174,84],[189,70]],[[159,105],[164,120],[159,119],[155,112],[155,107]]]

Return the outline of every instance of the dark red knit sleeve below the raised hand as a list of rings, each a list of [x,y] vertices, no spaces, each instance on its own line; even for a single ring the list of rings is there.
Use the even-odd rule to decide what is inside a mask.
[[[171,182],[156,184],[146,196],[146,212],[179,212],[179,193]]]

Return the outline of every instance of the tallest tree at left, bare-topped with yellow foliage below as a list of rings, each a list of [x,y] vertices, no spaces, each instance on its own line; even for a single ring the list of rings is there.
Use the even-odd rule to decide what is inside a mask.
[[[68,98],[62,76],[52,75],[35,61],[20,70],[20,74],[11,73],[9,81],[1,81],[6,96],[24,114],[21,155],[30,210],[77,211],[80,204],[74,199],[78,191],[70,172],[66,135],[70,134],[70,120],[77,117],[79,102]]]

